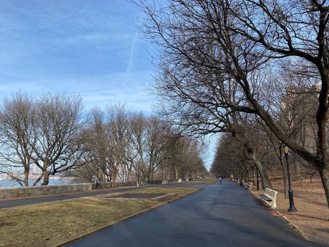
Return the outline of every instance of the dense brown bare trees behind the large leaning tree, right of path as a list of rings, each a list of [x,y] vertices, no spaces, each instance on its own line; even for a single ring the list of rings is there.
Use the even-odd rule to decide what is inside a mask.
[[[296,143],[300,143],[304,149],[315,153],[317,128],[314,109],[319,87],[307,82],[307,80],[296,80],[287,74],[276,78],[273,84],[277,89],[284,89],[286,93],[282,96],[276,95],[274,91],[267,108],[273,109],[272,114],[275,114],[276,121],[284,133]],[[259,117],[239,113],[234,116],[234,120],[239,123],[239,133],[221,135],[211,172],[216,176],[234,175],[234,178],[239,178],[241,171],[244,171],[244,175],[247,174],[245,171],[248,171],[249,176],[252,177],[256,176],[258,170],[263,187],[271,187],[267,170],[274,169],[275,175],[282,176],[286,185],[287,168],[281,149],[282,142]],[[291,153],[290,161],[295,168],[293,172],[295,180],[302,180],[305,176],[312,179],[317,172],[314,166],[295,152]],[[287,193],[287,186],[284,187]]]

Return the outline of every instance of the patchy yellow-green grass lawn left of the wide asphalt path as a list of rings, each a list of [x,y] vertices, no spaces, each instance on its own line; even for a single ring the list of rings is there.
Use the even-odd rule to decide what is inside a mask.
[[[144,188],[129,193],[167,195],[155,200],[103,199],[120,194],[111,193],[0,209],[0,246],[60,246],[194,191],[188,187]]]

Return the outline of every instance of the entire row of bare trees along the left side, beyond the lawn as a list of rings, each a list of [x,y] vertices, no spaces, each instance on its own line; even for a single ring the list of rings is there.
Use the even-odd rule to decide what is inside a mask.
[[[125,106],[84,113],[76,95],[16,93],[0,110],[0,172],[29,186],[64,172],[80,182],[145,181],[205,172],[195,139],[182,137],[158,117]],[[23,172],[24,176],[21,176]]]

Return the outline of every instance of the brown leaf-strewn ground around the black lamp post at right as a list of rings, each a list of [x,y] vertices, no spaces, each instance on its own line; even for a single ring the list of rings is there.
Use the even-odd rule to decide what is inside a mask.
[[[272,182],[273,189],[278,191],[277,209],[310,241],[329,243],[329,209],[324,188],[319,179],[293,183],[293,199],[297,212],[288,212],[289,198],[284,199],[282,181]],[[256,188],[253,188],[256,189]],[[254,191],[255,193],[262,193]]]

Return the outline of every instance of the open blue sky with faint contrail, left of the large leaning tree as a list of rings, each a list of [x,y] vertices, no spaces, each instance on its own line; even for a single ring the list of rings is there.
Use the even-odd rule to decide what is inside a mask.
[[[151,112],[151,45],[125,0],[1,0],[0,97],[79,93],[86,108]]]

